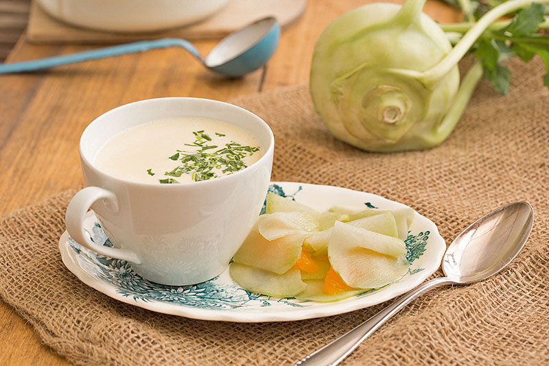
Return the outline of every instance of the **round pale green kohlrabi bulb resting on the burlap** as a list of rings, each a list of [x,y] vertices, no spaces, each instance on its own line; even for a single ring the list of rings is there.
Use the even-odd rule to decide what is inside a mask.
[[[441,125],[458,93],[459,71],[454,64],[434,80],[424,77],[452,45],[421,12],[423,3],[369,3],[318,38],[311,95],[340,140],[368,151],[401,151],[438,145],[452,131]]]

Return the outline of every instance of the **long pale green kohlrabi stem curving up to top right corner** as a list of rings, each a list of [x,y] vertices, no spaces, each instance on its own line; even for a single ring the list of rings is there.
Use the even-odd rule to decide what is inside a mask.
[[[531,3],[549,3],[549,0],[511,0],[496,6],[484,14],[484,16],[482,16],[482,18],[480,18],[478,22],[475,23],[471,29],[469,29],[457,45],[447,53],[445,58],[443,58],[438,64],[434,65],[428,71],[423,72],[419,77],[419,80],[421,80],[421,82],[425,85],[432,85],[441,80],[450,71],[450,69],[456,66],[459,60],[465,56],[465,53],[469,51],[471,46],[476,42],[477,38],[484,33],[491,23],[505,14],[514,12],[515,10],[523,8],[526,5],[530,5]]]

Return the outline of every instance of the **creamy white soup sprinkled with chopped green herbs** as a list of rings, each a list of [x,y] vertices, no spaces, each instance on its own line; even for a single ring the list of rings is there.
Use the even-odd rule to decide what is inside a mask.
[[[95,156],[109,175],[134,182],[176,184],[240,171],[263,155],[248,132],[202,117],[169,119],[121,132]]]

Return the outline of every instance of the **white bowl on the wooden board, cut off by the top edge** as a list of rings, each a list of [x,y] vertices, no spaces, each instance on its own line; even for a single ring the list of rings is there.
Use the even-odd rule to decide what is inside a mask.
[[[150,32],[202,21],[229,0],[38,0],[66,23],[113,32]]]

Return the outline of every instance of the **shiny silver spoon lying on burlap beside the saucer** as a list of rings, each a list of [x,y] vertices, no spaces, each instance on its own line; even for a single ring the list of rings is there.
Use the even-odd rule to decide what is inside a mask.
[[[390,304],[384,310],[294,363],[294,366],[335,366],[364,339],[423,293],[446,284],[470,284],[485,280],[508,265],[524,247],[534,219],[532,206],[516,202],[484,215],[463,230],[446,250],[445,277],[434,278]]]

